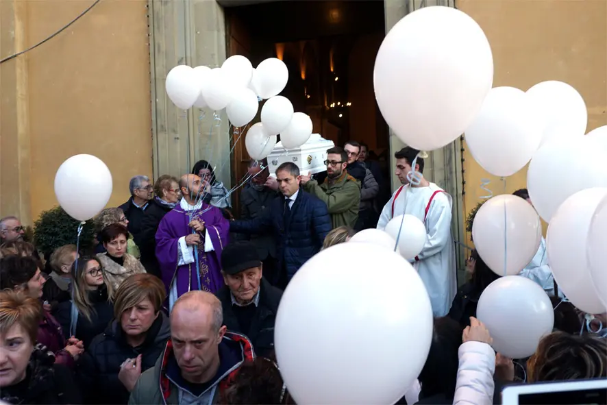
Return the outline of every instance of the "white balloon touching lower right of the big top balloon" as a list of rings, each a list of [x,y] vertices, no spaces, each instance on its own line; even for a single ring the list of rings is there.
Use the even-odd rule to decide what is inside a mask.
[[[507,177],[523,169],[540,145],[541,125],[514,87],[492,88],[466,130],[466,144],[483,169]]]

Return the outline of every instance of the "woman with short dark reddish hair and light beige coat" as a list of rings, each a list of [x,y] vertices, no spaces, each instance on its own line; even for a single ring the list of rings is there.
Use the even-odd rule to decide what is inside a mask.
[[[99,234],[106,253],[97,254],[103,268],[103,279],[116,291],[129,275],[145,273],[141,262],[127,252],[129,231],[120,223],[112,223]],[[111,297],[111,295],[110,295]]]

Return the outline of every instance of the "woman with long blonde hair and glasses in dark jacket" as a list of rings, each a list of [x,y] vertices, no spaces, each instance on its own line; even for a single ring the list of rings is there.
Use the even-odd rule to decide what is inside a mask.
[[[76,336],[90,345],[92,339],[103,332],[112,320],[114,293],[112,284],[103,278],[99,259],[80,257],[72,265],[73,296],[71,301],[59,304],[55,317],[61,324],[64,336]]]

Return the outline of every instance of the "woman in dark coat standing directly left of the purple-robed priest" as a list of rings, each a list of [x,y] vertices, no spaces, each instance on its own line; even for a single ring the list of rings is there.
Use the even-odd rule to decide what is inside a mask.
[[[154,193],[156,197],[149,201],[141,220],[141,232],[137,234],[135,243],[139,247],[140,260],[145,271],[160,278],[160,265],[156,259],[156,231],[166,212],[175,208],[182,195],[179,191],[179,181],[170,175],[158,177],[154,184]]]

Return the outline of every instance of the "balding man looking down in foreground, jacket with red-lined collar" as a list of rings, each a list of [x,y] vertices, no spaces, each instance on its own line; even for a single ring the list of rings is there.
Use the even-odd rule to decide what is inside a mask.
[[[219,299],[190,291],[175,302],[171,339],[138,379],[129,404],[218,404],[240,365],[254,357],[246,336],[225,330]]]

